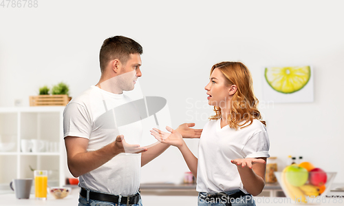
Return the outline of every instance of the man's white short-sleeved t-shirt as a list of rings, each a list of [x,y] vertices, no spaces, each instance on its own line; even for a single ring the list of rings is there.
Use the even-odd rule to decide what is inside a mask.
[[[135,107],[116,110],[129,102],[131,99],[124,94],[113,94],[91,86],[65,107],[64,137],[89,139],[87,152],[114,142],[120,134],[125,136],[127,143],[140,144],[142,123],[131,123],[126,115],[131,113],[132,119],[132,115],[137,114],[136,119],[140,119],[139,112],[133,112]],[[140,167],[141,154],[121,153],[97,169],[79,176],[79,187],[122,196],[136,194],[140,187]]]

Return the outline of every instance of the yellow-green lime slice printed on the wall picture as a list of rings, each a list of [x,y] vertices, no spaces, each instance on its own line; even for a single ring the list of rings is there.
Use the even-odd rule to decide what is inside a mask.
[[[291,94],[301,90],[310,81],[310,66],[265,68],[265,79],[277,92]]]

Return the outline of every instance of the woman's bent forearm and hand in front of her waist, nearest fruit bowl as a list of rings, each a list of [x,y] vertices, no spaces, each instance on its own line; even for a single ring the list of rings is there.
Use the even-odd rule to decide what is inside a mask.
[[[266,157],[239,158],[230,161],[237,165],[241,182],[246,191],[257,196],[265,186]]]

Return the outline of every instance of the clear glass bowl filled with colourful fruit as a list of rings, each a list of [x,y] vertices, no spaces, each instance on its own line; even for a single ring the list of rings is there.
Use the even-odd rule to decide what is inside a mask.
[[[312,163],[303,162],[288,165],[283,172],[275,172],[275,176],[291,203],[319,204],[330,191],[336,172],[325,172]]]

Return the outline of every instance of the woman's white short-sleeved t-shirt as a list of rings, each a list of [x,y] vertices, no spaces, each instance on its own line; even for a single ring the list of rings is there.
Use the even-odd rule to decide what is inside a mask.
[[[241,189],[236,158],[269,157],[270,147],[266,127],[257,119],[243,129],[235,130],[221,119],[206,123],[200,138],[197,165],[197,192],[218,193]]]

